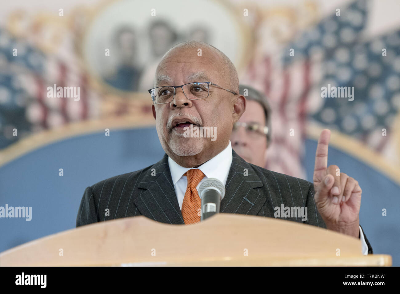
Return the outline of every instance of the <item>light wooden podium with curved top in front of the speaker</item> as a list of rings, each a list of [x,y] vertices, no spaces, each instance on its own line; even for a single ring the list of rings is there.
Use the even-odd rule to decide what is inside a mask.
[[[392,257],[364,256],[359,239],[316,226],[222,213],[192,225],[144,216],[90,224],[6,250],[0,265],[391,266]]]

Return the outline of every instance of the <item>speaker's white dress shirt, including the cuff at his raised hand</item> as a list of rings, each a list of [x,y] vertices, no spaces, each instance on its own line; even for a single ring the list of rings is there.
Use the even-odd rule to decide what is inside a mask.
[[[174,162],[174,160],[172,160],[172,158],[170,157],[168,157],[168,165],[170,167],[172,182],[174,183],[174,188],[176,192],[176,198],[178,199],[179,208],[180,210],[182,210],[183,198],[185,196],[186,188],[188,186],[188,179],[186,178],[186,176],[184,176],[184,173],[192,168],[184,168],[183,166],[180,166],[179,164]],[[201,170],[205,176],[197,185],[196,189],[199,190],[201,183],[208,178],[217,178],[225,186],[231,165],[232,165],[232,145],[229,141],[228,146],[226,146],[224,150],[222,150],[216,156],[204,162],[201,166],[197,168]],[[360,227],[360,240],[362,244],[361,252],[362,254],[367,255],[368,246],[365,242],[364,234],[362,233],[361,227]]]

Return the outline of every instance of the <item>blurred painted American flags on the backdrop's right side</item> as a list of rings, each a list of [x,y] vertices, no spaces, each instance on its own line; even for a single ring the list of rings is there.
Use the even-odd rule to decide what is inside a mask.
[[[272,108],[266,168],[305,178],[306,124],[320,124],[382,151],[400,106],[400,31],[368,40],[368,1],[336,10],[278,52],[254,57],[244,82],[262,90]],[[382,56],[382,49],[386,56]],[[290,55],[293,52],[294,55]],[[321,87],[354,86],[354,100],[322,98]],[[290,136],[290,131],[294,136]]]

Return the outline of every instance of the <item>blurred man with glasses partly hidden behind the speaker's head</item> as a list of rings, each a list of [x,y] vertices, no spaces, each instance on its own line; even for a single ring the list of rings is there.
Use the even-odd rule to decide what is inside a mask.
[[[246,111],[233,126],[230,141],[235,152],[247,162],[265,167],[271,142],[271,108],[266,97],[256,89],[240,85],[246,97]]]

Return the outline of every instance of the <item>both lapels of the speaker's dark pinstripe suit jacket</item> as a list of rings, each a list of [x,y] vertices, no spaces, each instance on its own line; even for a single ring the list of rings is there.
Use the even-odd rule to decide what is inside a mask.
[[[139,195],[134,203],[142,215],[157,222],[184,224],[172,184],[167,154],[139,180]],[[257,215],[266,201],[262,189],[259,189],[262,186],[252,166],[232,150],[232,165],[220,212]]]

